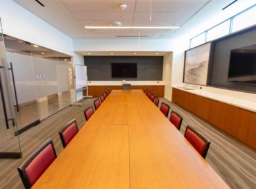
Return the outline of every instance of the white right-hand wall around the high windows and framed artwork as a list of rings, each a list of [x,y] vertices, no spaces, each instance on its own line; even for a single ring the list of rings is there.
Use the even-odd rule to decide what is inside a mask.
[[[215,3],[216,11],[212,11],[212,3]],[[184,68],[184,56],[185,51],[189,48],[189,39],[202,33],[203,31],[219,24],[221,21],[228,19],[241,12],[242,10],[252,6],[256,3],[256,0],[246,1],[240,0],[237,3],[226,10],[221,10],[221,1],[211,1],[203,10],[187,22],[178,32],[175,37],[175,49],[173,50],[173,65],[172,65],[172,78],[171,84],[173,86],[185,86],[194,89],[199,89],[200,86],[194,84],[182,83],[183,79],[183,68]],[[219,89],[214,87],[203,87],[202,90],[209,91],[211,93],[223,93],[226,96],[233,98],[239,98],[242,100],[254,101],[256,98],[255,94],[243,93],[239,91],[231,91],[226,89]]]

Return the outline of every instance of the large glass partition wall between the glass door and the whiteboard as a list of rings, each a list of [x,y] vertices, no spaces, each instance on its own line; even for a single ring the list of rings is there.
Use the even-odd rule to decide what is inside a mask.
[[[18,125],[10,134],[13,138],[26,135],[31,127],[74,102],[73,66],[69,55],[8,35],[2,38]]]

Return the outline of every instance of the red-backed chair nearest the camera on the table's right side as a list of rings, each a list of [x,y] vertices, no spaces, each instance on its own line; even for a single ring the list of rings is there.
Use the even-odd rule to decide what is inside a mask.
[[[193,145],[196,151],[205,159],[210,147],[210,141],[208,141],[200,133],[196,132],[196,130],[190,125],[187,125],[184,136],[187,141]]]

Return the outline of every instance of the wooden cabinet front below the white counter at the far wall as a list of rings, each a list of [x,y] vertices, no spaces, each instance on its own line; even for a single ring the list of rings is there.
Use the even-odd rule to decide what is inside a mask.
[[[101,96],[101,94],[107,89],[122,89],[121,85],[113,86],[113,85],[104,85],[104,86],[88,86],[89,96],[97,98]],[[132,89],[148,89],[155,96],[164,97],[164,85],[134,85]],[[86,95],[86,93],[84,93]]]

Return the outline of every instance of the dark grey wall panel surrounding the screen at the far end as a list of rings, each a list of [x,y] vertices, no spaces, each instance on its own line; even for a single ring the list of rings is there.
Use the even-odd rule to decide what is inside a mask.
[[[137,63],[137,78],[112,78],[111,63]],[[87,56],[88,80],[162,80],[163,57],[160,56]]]

